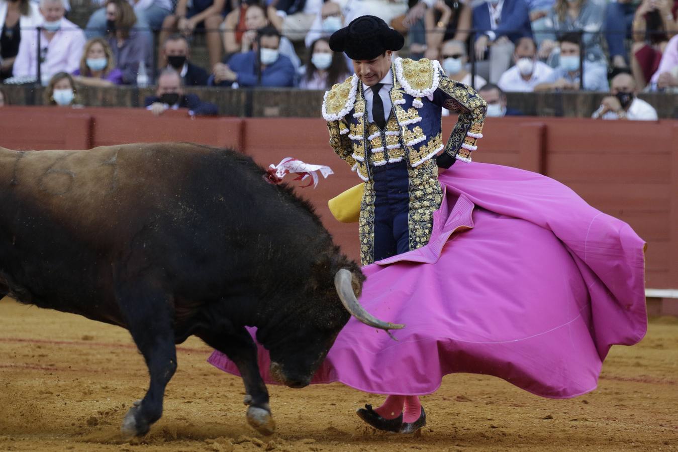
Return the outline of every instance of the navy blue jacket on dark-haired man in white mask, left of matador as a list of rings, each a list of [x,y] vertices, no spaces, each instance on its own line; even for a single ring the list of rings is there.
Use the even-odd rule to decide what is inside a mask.
[[[256,86],[256,52],[254,50],[245,52],[244,54],[235,54],[228,60],[228,67],[238,75],[235,80],[240,86]],[[269,64],[262,70],[261,85],[262,86],[294,86],[294,65],[284,55],[278,56],[278,59]],[[222,81],[219,85],[231,85],[230,81]],[[214,85],[214,76],[210,76],[210,85]]]

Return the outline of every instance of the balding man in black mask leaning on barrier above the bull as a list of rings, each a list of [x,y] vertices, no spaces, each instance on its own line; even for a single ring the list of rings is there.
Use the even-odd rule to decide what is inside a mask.
[[[196,94],[184,94],[181,77],[172,68],[165,68],[160,73],[155,96],[148,96],[144,100],[144,106],[155,116],[162,115],[166,110],[178,110],[179,108],[188,108],[188,115],[191,116],[218,115],[216,105],[201,102]]]

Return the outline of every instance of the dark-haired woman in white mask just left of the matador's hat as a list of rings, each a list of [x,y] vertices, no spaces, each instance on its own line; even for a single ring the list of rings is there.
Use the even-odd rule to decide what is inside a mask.
[[[332,52],[330,41],[317,39],[308,49],[308,62],[304,66],[299,87],[302,89],[323,89],[327,91],[335,83],[342,83],[351,76],[346,66],[346,58],[338,52]]]

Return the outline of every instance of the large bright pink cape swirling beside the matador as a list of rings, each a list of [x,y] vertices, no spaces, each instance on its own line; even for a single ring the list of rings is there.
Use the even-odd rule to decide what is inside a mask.
[[[645,243],[631,227],[537,173],[483,163],[441,172],[428,245],[365,266],[361,303],[392,331],[355,319],[313,383],[430,394],[443,375],[495,375],[533,394],[595,389],[613,344],[647,330]],[[220,352],[209,360],[237,374]],[[268,352],[260,347],[266,382]]]

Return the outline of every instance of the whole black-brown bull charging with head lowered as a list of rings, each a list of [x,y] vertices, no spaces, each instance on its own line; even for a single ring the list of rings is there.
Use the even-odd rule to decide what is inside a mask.
[[[349,319],[364,276],[313,209],[231,150],[129,144],[87,151],[0,148],[0,295],[129,330],[150,385],[123,419],[161,417],[190,335],[243,375],[247,420],[275,428],[256,346],[284,384],[306,386]]]

